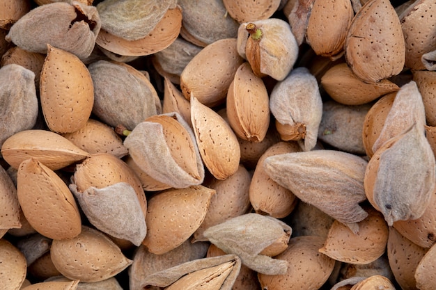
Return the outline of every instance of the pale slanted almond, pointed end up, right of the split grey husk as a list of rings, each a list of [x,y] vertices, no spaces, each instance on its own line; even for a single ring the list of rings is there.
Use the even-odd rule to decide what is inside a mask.
[[[204,165],[217,179],[233,175],[240,162],[238,138],[215,111],[191,98],[191,122]]]

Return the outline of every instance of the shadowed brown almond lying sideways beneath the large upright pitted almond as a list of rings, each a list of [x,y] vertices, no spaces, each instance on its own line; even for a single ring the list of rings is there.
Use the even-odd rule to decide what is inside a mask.
[[[345,105],[366,104],[377,97],[400,89],[387,79],[377,83],[365,83],[353,74],[346,63],[335,65],[327,70],[321,78],[321,84],[332,99]]]

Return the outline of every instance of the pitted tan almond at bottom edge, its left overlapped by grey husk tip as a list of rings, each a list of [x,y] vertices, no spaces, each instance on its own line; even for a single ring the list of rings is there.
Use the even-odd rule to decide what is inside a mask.
[[[285,275],[258,274],[262,289],[319,289],[334,268],[334,259],[318,252],[322,243],[320,236],[290,239],[288,248],[274,257],[288,261],[288,271]]]

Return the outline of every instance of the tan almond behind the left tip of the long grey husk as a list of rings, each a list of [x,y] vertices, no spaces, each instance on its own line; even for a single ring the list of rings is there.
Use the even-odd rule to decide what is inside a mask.
[[[254,211],[258,214],[284,218],[290,214],[297,204],[297,197],[265,172],[264,161],[269,156],[300,152],[295,142],[279,142],[268,148],[260,156],[249,187],[249,198]]]

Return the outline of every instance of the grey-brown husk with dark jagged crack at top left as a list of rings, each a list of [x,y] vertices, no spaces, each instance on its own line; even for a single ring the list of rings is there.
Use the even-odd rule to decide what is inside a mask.
[[[47,43],[87,58],[100,31],[97,9],[73,1],[34,8],[10,28],[6,39],[28,51],[47,53]]]

